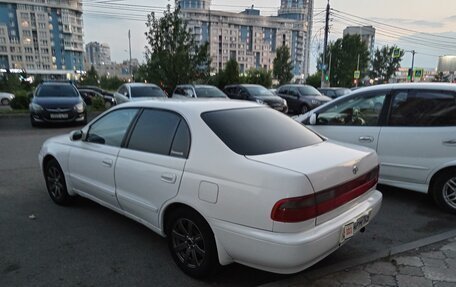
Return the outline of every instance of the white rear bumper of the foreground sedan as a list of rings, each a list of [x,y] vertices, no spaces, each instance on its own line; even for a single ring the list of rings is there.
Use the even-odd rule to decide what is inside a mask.
[[[378,213],[382,194],[373,189],[366,200],[315,228],[299,233],[277,233],[211,220],[221,263],[235,261],[275,273],[295,273],[320,261],[343,243],[343,226],[371,210],[370,220]]]

